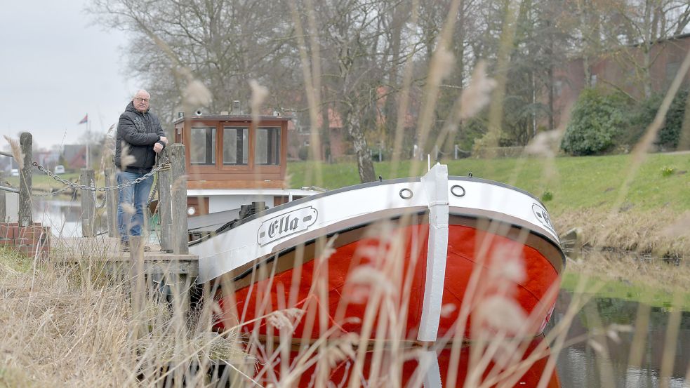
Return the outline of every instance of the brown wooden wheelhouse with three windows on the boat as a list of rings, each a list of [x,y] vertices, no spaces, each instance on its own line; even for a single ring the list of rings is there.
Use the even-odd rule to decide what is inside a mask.
[[[239,209],[251,201],[277,206],[306,190],[285,187],[289,116],[194,115],[174,121],[185,145],[187,213]]]

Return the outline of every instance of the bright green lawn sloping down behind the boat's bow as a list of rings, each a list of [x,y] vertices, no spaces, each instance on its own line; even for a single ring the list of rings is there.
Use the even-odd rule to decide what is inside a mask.
[[[625,177],[629,174],[630,155],[558,157],[546,159],[460,159],[448,161],[449,174],[467,175],[497,180],[542,196],[553,194],[546,202],[550,212],[559,215],[567,210],[596,208],[609,210],[618,198]],[[383,179],[409,176],[410,163],[402,163],[397,172],[391,172],[390,163],[375,163],[376,175]],[[359,183],[354,163],[321,163],[321,180],[309,179],[314,175],[313,162],[288,164],[291,187],[319,185],[336,189]],[[663,168],[673,168],[664,176]],[[424,162],[426,170],[426,162]],[[690,154],[650,154],[623,199],[623,206],[636,210],[668,207],[671,210],[690,210]]]

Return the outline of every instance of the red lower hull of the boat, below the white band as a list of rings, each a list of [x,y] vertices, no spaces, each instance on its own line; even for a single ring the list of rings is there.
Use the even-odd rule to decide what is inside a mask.
[[[223,314],[218,316],[218,327],[240,324],[244,332],[272,336],[277,329],[263,317],[295,307],[305,312],[291,327],[295,339],[309,341],[324,333],[363,334],[366,330],[369,337],[416,340],[427,278],[428,229],[429,225],[419,222],[378,232],[364,228],[366,232],[359,231],[352,241],[343,234],[323,260],[314,258],[313,252],[319,251],[316,243],[311,250],[293,250],[260,270],[272,276],[252,273],[225,283],[235,284],[237,290],[227,286],[221,290]],[[529,328],[520,333],[541,333],[555,302],[560,268],[553,257],[538,249],[539,244],[520,240],[477,227],[449,225],[439,338],[473,337],[472,318],[482,300],[494,295],[529,316],[523,323]],[[510,274],[515,263],[519,273]],[[497,269],[505,269],[507,277],[499,274],[496,278]],[[470,303],[464,319],[463,303]],[[458,318],[463,328],[454,326]]]

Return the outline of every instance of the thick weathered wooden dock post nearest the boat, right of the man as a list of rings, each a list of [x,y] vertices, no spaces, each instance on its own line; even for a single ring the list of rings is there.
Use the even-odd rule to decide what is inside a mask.
[[[190,253],[187,246],[187,168],[185,166],[185,145],[175,143],[170,146],[173,253]]]

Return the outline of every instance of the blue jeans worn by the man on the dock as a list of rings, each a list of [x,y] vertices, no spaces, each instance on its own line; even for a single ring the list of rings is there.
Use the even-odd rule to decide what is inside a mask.
[[[117,184],[123,185],[144,175],[121,171],[117,173]],[[129,236],[141,236],[141,228],[144,225],[144,207],[149,199],[152,185],[153,175],[136,185],[120,189],[117,201],[117,229],[120,232],[121,241],[128,241]],[[130,211],[125,211],[123,205],[131,206]],[[132,208],[134,209],[133,214],[131,213]]]

